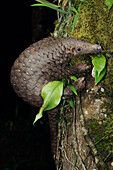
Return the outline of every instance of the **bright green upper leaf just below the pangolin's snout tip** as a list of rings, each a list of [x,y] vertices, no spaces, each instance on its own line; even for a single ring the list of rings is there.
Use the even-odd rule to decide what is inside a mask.
[[[104,55],[100,55],[100,57],[95,56],[92,60],[92,63],[95,67],[95,70],[98,72],[98,77],[101,73],[101,71],[105,68],[106,65],[106,58]]]

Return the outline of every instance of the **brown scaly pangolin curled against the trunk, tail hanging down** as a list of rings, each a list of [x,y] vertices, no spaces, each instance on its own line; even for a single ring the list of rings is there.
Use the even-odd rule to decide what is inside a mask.
[[[43,103],[41,89],[45,84],[87,70],[86,64],[69,66],[72,56],[98,53],[100,50],[100,45],[77,38],[44,38],[30,45],[16,59],[11,69],[11,84],[24,101],[40,107]],[[57,113],[55,110],[49,111],[48,116],[50,122],[56,121]],[[56,124],[50,125],[55,142],[53,146],[56,145],[55,140],[57,140],[56,132],[53,130],[56,126]],[[54,152],[55,149],[53,149]]]

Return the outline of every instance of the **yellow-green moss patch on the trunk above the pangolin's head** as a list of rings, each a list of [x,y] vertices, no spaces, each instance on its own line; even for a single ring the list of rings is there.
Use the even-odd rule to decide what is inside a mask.
[[[105,0],[88,0],[82,5],[75,31],[70,36],[92,43],[100,41],[104,50],[113,51],[113,8],[109,10]]]

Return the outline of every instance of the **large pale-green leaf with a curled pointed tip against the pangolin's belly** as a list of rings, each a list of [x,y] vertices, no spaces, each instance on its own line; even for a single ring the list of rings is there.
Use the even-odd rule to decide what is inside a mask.
[[[53,81],[46,84],[41,92],[41,96],[44,100],[39,113],[36,115],[34,123],[42,117],[43,111],[51,110],[55,108],[61,101],[63,94],[63,82]]]

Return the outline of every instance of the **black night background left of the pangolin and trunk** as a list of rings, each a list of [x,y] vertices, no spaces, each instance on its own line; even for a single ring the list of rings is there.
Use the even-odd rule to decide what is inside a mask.
[[[56,11],[31,7],[33,0],[1,4],[0,169],[54,170],[46,113],[33,126],[38,108],[20,99],[10,84],[10,70],[18,55],[54,30]]]

